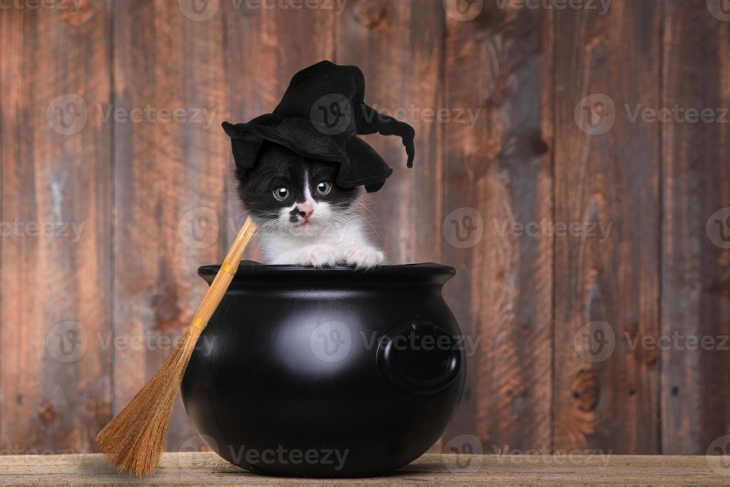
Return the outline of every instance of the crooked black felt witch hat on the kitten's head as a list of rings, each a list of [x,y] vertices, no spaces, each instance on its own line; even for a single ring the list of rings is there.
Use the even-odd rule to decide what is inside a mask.
[[[412,167],[415,131],[366,105],[364,95],[365,78],[357,66],[321,61],[294,74],[273,113],[249,123],[223,122],[239,174],[253,167],[261,144],[268,140],[302,157],[339,163],[337,184],[342,188],[365,185],[369,193],[379,190],[393,169],[358,134],[401,137]]]

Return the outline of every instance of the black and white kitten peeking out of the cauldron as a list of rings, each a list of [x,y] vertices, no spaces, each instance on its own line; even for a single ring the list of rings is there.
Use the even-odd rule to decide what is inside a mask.
[[[266,264],[368,269],[385,256],[358,215],[360,188],[335,183],[337,163],[304,158],[264,142],[253,168],[239,173],[243,204],[259,226]]]

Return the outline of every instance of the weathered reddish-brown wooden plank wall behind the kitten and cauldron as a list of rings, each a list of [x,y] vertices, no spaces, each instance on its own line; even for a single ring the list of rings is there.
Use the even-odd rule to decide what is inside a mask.
[[[730,434],[723,0],[457,1],[0,10],[2,453],[96,450],[242,222],[220,123],[325,58],[415,126],[412,170],[366,138],[394,174],[364,211],[391,261],[457,268],[445,297],[480,340],[434,451],[705,453]],[[675,106],[715,122],[641,118]],[[199,448],[182,404],[166,448]]]

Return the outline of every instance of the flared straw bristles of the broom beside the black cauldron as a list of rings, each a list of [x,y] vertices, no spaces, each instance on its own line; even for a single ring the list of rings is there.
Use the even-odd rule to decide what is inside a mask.
[[[198,341],[193,329],[185,331],[157,374],[97,435],[99,448],[118,472],[137,477],[155,472],[177,389]]]

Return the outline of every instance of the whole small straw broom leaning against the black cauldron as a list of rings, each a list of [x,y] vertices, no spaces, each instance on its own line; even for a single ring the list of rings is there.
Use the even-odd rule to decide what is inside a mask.
[[[96,437],[99,448],[118,472],[127,472],[137,477],[146,477],[155,472],[177,389],[183,381],[193,348],[210,316],[226,294],[255,228],[255,224],[247,218],[198,307],[191,325],[172,349],[172,353],[155,377],[152,377]]]

